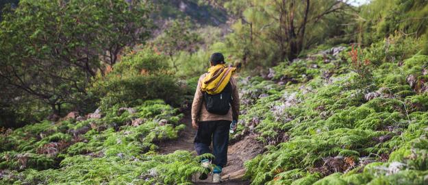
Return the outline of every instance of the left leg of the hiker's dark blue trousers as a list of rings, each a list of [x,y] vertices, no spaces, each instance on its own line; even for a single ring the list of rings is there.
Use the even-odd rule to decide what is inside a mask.
[[[203,153],[211,153],[210,145],[212,140],[212,126],[208,121],[199,122],[198,131],[194,137],[194,149],[198,155]]]

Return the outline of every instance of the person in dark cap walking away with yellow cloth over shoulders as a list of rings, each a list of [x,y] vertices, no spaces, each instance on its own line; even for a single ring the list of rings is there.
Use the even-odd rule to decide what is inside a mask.
[[[236,130],[239,114],[239,95],[233,77],[236,68],[227,67],[221,53],[213,53],[208,73],[199,77],[197,90],[192,103],[192,127],[197,129],[194,148],[198,155],[212,153],[214,169],[212,182],[221,182],[221,171],[227,163],[227,145],[229,130]],[[231,127],[232,125],[235,125]],[[210,145],[212,143],[212,149]],[[207,170],[201,173],[200,180],[205,180],[210,173],[210,159],[201,160]]]

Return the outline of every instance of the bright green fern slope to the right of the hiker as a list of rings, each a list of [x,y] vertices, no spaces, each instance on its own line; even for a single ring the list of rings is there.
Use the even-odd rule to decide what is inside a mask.
[[[246,162],[246,177],[252,184],[427,184],[428,56],[411,43],[388,38],[355,58],[351,46],[336,56],[320,51],[279,64],[272,80],[241,79],[242,124],[233,137],[253,133],[266,145]]]

